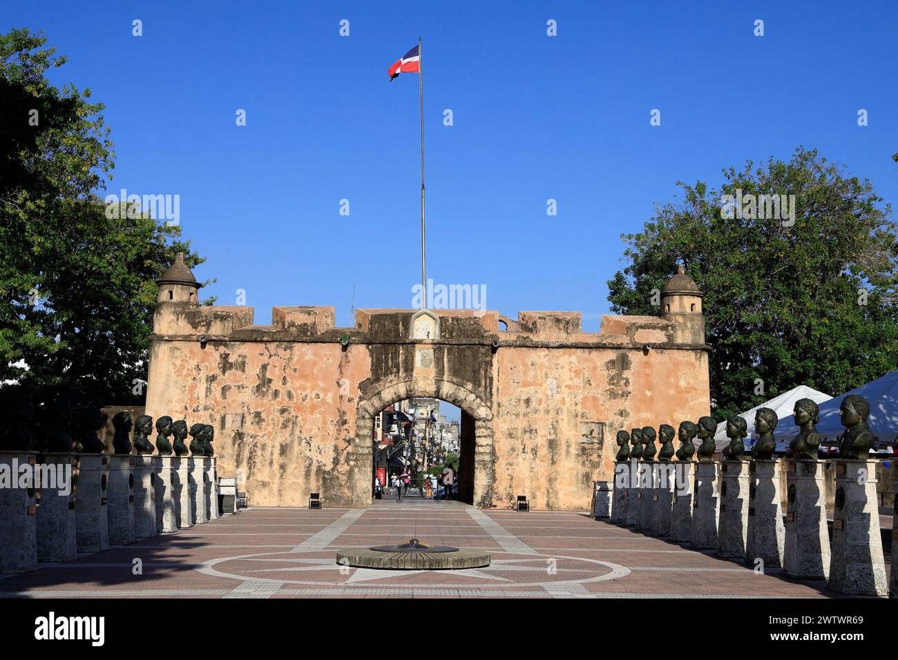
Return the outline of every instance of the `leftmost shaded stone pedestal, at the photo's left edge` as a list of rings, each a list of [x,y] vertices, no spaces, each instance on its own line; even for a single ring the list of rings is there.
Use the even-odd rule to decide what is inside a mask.
[[[24,573],[38,568],[37,489],[16,488],[20,466],[31,465],[28,470],[32,470],[37,455],[0,451],[0,475],[11,480],[0,488],[0,573]]]

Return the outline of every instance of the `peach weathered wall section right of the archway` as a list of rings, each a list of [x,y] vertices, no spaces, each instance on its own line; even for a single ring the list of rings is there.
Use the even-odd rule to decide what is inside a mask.
[[[527,495],[534,508],[588,509],[593,480],[612,478],[621,428],[677,427],[709,414],[704,351],[507,348],[498,356],[497,506]]]

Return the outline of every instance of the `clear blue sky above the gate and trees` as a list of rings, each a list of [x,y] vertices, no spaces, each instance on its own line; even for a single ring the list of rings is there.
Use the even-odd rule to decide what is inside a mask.
[[[180,195],[208,258],[196,274],[218,278],[204,294],[234,304],[244,289],[256,322],[333,304],[349,325],[354,279],[357,307],[411,306],[418,80],[386,71],[418,35],[428,277],[486,285],[512,317],[574,310],[598,330],[620,234],[678,179],[716,185],[806,145],[898,197],[895,3],[193,5],[20,3],[2,27],[43,30],[69,57],[54,80],[107,106],[110,190]]]

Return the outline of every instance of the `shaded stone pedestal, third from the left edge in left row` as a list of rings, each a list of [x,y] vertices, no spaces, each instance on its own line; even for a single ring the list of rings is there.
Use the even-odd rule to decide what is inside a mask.
[[[106,514],[109,469],[109,454],[75,454],[75,538],[79,552],[101,552],[110,547]]]

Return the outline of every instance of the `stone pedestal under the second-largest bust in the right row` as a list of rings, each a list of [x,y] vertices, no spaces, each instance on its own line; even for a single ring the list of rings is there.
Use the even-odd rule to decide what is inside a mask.
[[[786,542],[783,575],[804,580],[830,576],[830,535],[823,501],[823,461],[786,462]]]

